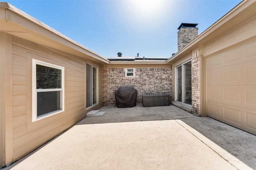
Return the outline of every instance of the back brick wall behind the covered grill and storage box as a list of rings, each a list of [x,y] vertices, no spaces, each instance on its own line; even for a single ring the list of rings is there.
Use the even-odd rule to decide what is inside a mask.
[[[107,71],[108,105],[116,104],[114,92],[121,86],[137,90],[137,104],[142,104],[143,94],[170,94],[172,98],[172,68],[135,68],[134,77],[126,77],[125,68],[108,68]]]

